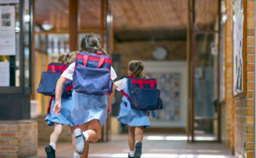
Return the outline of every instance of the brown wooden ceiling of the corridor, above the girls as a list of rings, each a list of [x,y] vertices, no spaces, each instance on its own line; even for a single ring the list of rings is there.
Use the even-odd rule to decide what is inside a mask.
[[[196,0],[196,27],[214,27],[218,0]],[[81,30],[99,29],[100,0],[80,0]],[[188,0],[109,0],[117,41],[186,39]],[[35,24],[68,31],[68,0],[35,0]]]

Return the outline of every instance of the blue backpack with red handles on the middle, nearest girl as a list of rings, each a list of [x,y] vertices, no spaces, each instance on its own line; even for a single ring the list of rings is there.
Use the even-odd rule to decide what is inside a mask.
[[[111,57],[89,52],[78,52],[73,74],[73,88],[79,93],[105,95],[112,92],[110,78]]]

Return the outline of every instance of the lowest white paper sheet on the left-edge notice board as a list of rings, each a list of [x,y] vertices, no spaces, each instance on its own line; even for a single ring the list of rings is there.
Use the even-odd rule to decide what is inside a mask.
[[[5,60],[0,62],[0,86],[9,86],[10,85],[10,67],[9,61]]]

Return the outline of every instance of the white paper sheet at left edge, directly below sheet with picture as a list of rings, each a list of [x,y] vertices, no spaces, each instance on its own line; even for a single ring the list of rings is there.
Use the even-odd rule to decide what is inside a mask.
[[[15,32],[0,31],[0,55],[16,55]]]

